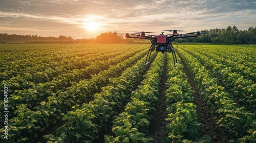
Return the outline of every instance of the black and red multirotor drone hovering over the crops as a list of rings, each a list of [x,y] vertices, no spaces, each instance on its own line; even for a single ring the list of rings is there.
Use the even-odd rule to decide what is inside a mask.
[[[129,34],[129,33],[117,33],[117,34],[123,34],[123,35],[125,35],[125,38],[137,38],[137,39],[151,40],[151,46],[148,49],[146,59],[144,62],[144,66],[146,66],[148,63],[150,63],[151,53],[156,50],[156,52],[162,52],[162,54],[164,54],[164,52],[172,53],[174,67],[176,67],[178,64],[178,61],[177,61],[175,51],[177,51],[178,45],[175,42],[175,39],[185,39],[185,38],[189,38],[189,37],[201,37],[201,34],[210,33],[210,32],[206,32],[206,31],[201,31],[201,32],[198,31],[198,32],[190,32],[190,33],[186,33],[186,34],[178,34],[178,32],[183,31],[183,30],[164,30],[164,31],[173,32],[173,34],[164,35],[164,32],[161,32],[160,35],[150,35],[147,33],[154,33],[154,32],[144,32],[144,31],[132,32],[132,34]],[[172,42],[175,42],[175,44],[177,45],[176,50],[174,49]]]

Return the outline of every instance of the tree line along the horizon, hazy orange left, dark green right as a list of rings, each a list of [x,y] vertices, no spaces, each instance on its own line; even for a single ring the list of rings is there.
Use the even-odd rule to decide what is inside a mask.
[[[248,30],[238,30],[236,26],[228,26],[226,29],[202,30],[211,34],[202,34],[202,37],[177,39],[177,42],[195,43],[232,43],[232,44],[255,44],[256,27]],[[141,39],[124,38],[116,32],[105,32],[91,39],[73,39],[71,36],[60,35],[59,37],[41,37],[37,35],[17,35],[0,33],[0,43],[148,43]]]

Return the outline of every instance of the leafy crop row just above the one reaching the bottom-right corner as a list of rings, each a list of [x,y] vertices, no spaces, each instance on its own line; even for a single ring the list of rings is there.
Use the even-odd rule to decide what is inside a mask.
[[[252,113],[256,112],[256,83],[241,76],[238,72],[232,72],[231,68],[224,64],[209,60],[209,56],[199,54],[191,49],[186,49],[186,51],[209,69],[224,84],[225,89],[228,89],[238,99],[241,106]]]

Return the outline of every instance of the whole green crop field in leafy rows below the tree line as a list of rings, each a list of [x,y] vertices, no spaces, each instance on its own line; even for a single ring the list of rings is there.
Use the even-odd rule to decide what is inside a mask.
[[[0,142],[256,142],[255,45],[149,46],[0,44]]]

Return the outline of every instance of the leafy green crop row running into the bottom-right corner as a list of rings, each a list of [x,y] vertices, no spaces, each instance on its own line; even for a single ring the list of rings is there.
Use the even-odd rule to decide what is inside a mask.
[[[217,124],[223,128],[225,135],[231,138],[229,141],[255,142],[255,113],[246,111],[243,106],[234,103],[233,97],[220,86],[211,72],[201,65],[196,57],[182,49],[179,50],[181,57],[193,74],[207,106],[214,112]]]

